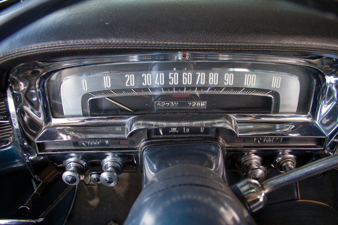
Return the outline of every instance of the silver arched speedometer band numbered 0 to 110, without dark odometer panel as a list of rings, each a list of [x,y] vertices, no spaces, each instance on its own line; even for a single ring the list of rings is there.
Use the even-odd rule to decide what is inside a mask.
[[[264,70],[265,67],[266,70]],[[54,104],[50,108],[54,117],[85,116],[84,114],[85,112],[88,113],[88,115],[90,115],[89,102],[90,100],[98,98],[104,97],[114,98],[123,96],[136,97],[144,95],[159,96],[170,94],[197,94],[197,95],[218,94],[224,97],[230,94],[237,95],[238,97],[243,95],[265,96],[270,97],[272,99],[272,111],[270,112],[270,113],[273,112],[272,114],[308,113],[309,107],[304,107],[304,109],[302,110],[297,109],[300,108],[299,106],[309,104],[309,102],[307,101],[302,102],[303,99],[299,98],[303,94],[301,91],[303,92],[305,91],[304,90],[305,82],[309,83],[309,85],[312,86],[311,83],[313,82],[312,81],[313,79],[309,78],[309,73],[298,67],[290,68],[290,66],[274,66],[273,69],[276,70],[272,70],[269,67],[270,66],[265,64],[258,65],[256,63],[199,62],[187,60],[185,62],[164,61],[152,63],[133,62],[125,64],[115,64],[115,63],[99,64],[99,65],[94,64],[90,66],[88,65],[82,67],[66,68],[55,72],[50,78],[47,79],[50,82],[47,81],[46,90],[48,90],[48,96],[50,101],[62,102],[62,109],[60,109],[60,106],[58,104],[56,105],[56,107]],[[174,84],[173,78],[172,78],[173,83],[170,84],[169,78],[169,74],[171,74],[170,72],[172,72],[172,74],[174,73],[177,74],[176,80],[177,84],[176,83]],[[187,82],[186,84],[183,84],[181,76],[184,74],[184,72],[192,74],[190,84],[187,84]],[[155,75],[156,73],[157,76]],[[209,73],[212,74],[212,76],[213,74],[217,74],[217,82],[216,82],[217,84],[212,83],[213,77],[210,83],[210,79],[208,79]],[[224,73],[228,73],[228,75],[233,74],[233,84],[226,85],[226,83],[223,82],[222,76],[224,76]],[[253,74],[255,78],[254,86],[250,86],[250,84],[246,85],[245,79],[246,73]],[[163,84],[159,84],[158,74],[163,75],[162,80]],[[197,78],[197,74],[204,74],[205,80],[203,81],[203,83],[202,82],[198,83],[199,77]],[[251,74],[249,74],[248,76],[251,77]],[[146,75],[149,76],[147,77],[149,79],[147,82],[150,82],[150,84],[144,83],[143,76]],[[125,76],[128,76],[128,80],[125,78]],[[130,81],[129,76],[133,78],[133,84],[131,84],[131,82],[129,82],[130,84],[128,83],[128,81]],[[272,88],[271,80],[272,78],[277,79],[277,77],[280,80],[283,80],[283,82],[279,83],[280,87],[277,86]],[[300,77],[302,79],[300,79]],[[108,79],[108,84],[106,84],[107,83],[106,79]],[[103,80],[104,83],[102,82]],[[303,90],[301,90],[301,82]],[[206,88],[208,89],[206,90]],[[272,93],[277,93],[277,95],[279,95],[278,97],[279,104],[276,105],[274,104],[275,99],[273,98]],[[218,98],[221,97],[219,96]],[[301,103],[303,104],[299,103],[300,99]],[[244,101],[243,98],[241,100]],[[85,104],[85,102],[87,104]],[[150,110],[151,103],[149,104],[150,107],[147,107],[149,112],[143,112],[143,114],[155,113],[154,110]],[[87,105],[87,107],[84,107],[84,105]],[[275,107],[276,109],[273,110]],[[55,110],[57,111],[57,113],[55,113]],[[192,112],[192,111],[186,109],[184,110],[184,112]],[[63,115],[60,115],[61,113],[63,113]],[[134,113],[131,112],[128,113],[130,115],[134,115]],[[170,111],[167,111],[165,113],[170,113]],[[219,113],[229,113],[229,111]],[[232,112],[232,113],[245,114],[245,112]],[[121,113],[117,113],[116,115],[119,114]],[[124,114],[122,113],[121,115]]]

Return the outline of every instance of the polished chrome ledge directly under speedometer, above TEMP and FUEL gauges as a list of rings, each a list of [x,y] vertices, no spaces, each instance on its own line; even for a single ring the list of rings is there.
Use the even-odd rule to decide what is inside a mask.
[[[185,122],[182,122],[185,121]],[[276,123],[276,121],[278,121]],[[273,124],[268,124],[273,122]],[[287,124],[286,124],[287,123]],[[292,125],[292,124],[293,125]],[[320,128],[309,115],[288,117],[288,115],[224,115],[224,114],[179,114],[179,115],[139,115],[131,117],[74,117],[52,118],[35,138],[37,142],[62,141],[86,138],[127,138],[141,129],[168,126],[218,127],[233,130],[238,136],[295,133],[301,125],[308,124]],[[250,126],[252,126],[250,128]],[[265,131],[263,131],[265,129]],[[112,132],[115,133],[112,133]],[[300,134],[298,134],[300,135]],[[318,136],[324,133],[318,132]]]

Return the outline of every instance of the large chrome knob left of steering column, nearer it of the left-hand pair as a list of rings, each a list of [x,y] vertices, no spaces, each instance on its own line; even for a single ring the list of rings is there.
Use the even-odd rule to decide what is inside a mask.
[[[118,160],[107,159],[102,162],[102,169],[104,172],[100,176],[101,183],[108,187],[115,186],[123,171],[122,163]]]

